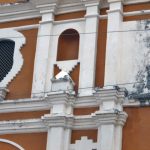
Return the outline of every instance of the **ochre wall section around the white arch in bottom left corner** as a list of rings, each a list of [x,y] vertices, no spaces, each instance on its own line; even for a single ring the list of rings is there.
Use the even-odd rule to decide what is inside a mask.
[[[8,135],[0,135],[0,138],[13,141],[22,146],[25,150],[46,150],[47,133],[8,134]],[[0,149],[7,150],[5,149],[5,147],[6,145],[0,142]],[[7,148],[8,147],[9,145],[7,146]],[[9,148],[11,147],[12,146],[10,145]],[[18,150],[18,149],[8,149],[8,150]]]

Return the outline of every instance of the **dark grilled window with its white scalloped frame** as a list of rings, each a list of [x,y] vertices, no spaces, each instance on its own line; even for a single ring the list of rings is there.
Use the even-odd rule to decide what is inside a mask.
[[[0,30],[0,87],[6,87],[23,65],[20,49],[25,37],[12,29]]]

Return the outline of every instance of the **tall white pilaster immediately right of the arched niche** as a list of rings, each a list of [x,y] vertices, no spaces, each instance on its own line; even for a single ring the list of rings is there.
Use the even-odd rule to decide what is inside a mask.
[[[80,96],[91,95],[95,84],[95,64],[97,53],[97,32],[99,2],[89,1],[86,6],[84,46],[80,57]]]

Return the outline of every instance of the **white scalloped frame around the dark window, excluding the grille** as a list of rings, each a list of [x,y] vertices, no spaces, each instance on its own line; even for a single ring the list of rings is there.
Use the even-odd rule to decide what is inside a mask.
[[[1,29],[0,30],[0,40],[8,39],[15,42],[14,56],[13,56],[13,66],[6,77],[0,82],[1,87],[7,87],[9,82],[18,74],[23,65],[23,57],[20,53],[21,47],[25,44],[26,39],[23,34],[11,30],[11,29]]]

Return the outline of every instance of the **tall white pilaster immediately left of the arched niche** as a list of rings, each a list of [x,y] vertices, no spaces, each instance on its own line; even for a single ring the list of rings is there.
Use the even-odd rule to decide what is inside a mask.
[[[50,49],[51,33],[54,21],[55,5],[50,10],[41,11],[42,21],[40,22],[36,55],[34,63],[34,75],[32,85],[32,97],[43,97],[46,86],[47,65]]]

